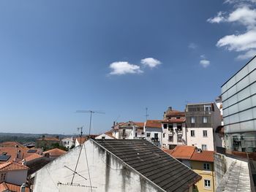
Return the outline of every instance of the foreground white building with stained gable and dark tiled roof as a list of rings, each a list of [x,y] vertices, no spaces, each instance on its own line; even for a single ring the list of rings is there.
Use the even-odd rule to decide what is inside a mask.
[[[34,191],[189,192],[200,178],[146,140],[89,139],[36,172]]]

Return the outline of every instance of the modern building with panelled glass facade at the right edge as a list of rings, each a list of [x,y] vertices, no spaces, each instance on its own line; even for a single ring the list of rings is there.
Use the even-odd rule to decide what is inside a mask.
[[[222,85],[228,151],[256,152],[256,56]]]

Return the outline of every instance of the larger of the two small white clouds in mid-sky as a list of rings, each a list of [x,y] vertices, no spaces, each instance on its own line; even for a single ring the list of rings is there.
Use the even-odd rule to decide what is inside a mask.
[[[112,70],[110,74],[140,74],[143,73],[140,70],[140,66],[129,64],[127,61],[117,61],[110,64],[110,69]]]

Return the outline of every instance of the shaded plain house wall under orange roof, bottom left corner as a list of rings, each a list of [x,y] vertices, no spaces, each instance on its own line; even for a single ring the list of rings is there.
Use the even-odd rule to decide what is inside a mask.
[[[22,185],[23,183],[26,183],[27,174],[28,170],[10,171],[7,172],[5,181],[15,185]]]

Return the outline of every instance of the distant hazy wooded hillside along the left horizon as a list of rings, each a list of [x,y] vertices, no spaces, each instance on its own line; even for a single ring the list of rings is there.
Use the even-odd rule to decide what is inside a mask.
[[[35,142],[38,138],[45,135],[45,137],[72,137],[72,135],[63,134],[21,134],[21,133],[0,133],[0,142],[20,142],[24,144],[26,142]]]

